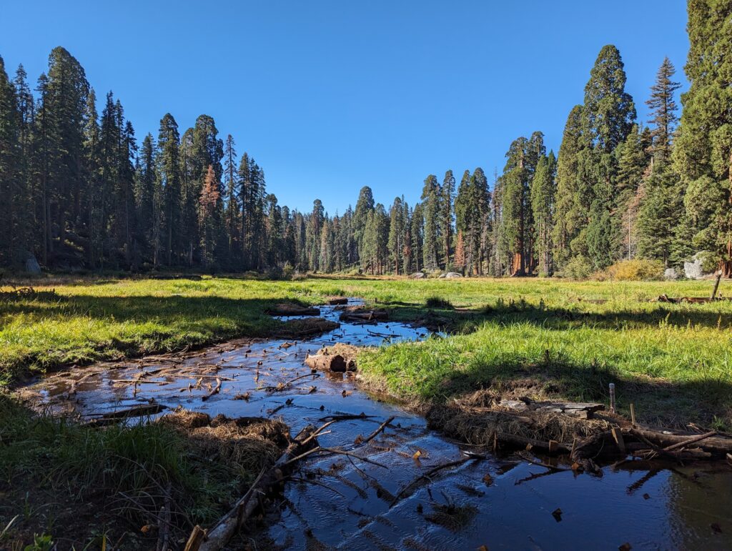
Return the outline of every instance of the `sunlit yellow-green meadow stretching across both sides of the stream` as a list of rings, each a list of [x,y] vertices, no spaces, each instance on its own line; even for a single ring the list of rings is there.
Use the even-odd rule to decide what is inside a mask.
[[[34,287],[55,293],[0,301],[6,383],[29,369],[266,336],[277,328],[264,314],[268,305],[318,304],[337,294],[377,301],[394,319],[449,329],[447,338],[362,354],[365,381],[407,400],[444,402],[516,378],[540,378],[572,399],[605,400],[614,381],[621,408],[633,401],[644,419],[732,424],[732,302],[649,302],[662,293],[709,296],[712,282],[217,277]],[[732,294],[732,282],[720,292]]]

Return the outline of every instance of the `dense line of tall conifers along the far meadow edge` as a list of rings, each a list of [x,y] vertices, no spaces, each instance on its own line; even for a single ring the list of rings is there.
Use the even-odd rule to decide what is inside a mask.
[[[732,7],[691,0],[691,86],[664,59],[638,124],[617,48],[597,57],[559,154],[514,140],[492,184],[481,168],[430,174],[418,203],[301,213],[266,191],[264,170],[201,115],[135,138],[110,92],[101,116],[64,48],[31,91],[0,58],[0,266],[88,269],[584,275],[624,258],[678,266],[708,250],[732,268]]]

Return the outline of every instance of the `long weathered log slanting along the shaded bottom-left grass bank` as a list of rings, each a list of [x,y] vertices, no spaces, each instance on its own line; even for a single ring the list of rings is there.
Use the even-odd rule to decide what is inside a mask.
[[[302,441],[310,436],[312,432],[313,427],[305,427],[295,437],[294,441],[291,441],[287,446],[287,449],[285,449],[284,453],[275,462],[275,465],[272,465],[267,470],[261,471],[247,493],[236,502],[236,505],[234,505],[231,511],[228,511],[214,525],[214,528],[205,532],[203,537],[201,537],[201,527],[196,526],[190,534],[185,547],[186,551],[218,551],[223,549],[258,506],[259,499],[255,498],[255,495],[264,495],[269,487],[272,487],[272,485],[283,478],[283,468],[285,468],[285,465],[288,464],[292,457],[299,454],[299,451],[302,451]]]

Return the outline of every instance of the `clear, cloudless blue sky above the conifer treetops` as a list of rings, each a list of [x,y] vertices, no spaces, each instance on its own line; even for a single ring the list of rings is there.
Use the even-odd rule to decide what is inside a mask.
[[[684,0],[12,1],[0,55],[33,82],[56,45],[113,90],[141,140],[208,113],[281,204],[329,213],[369,185],[419,198],[429,173],[493,180],[534,130],[559,149],[598,51],[618,46],[639,119],[664,56],[683,66]]]

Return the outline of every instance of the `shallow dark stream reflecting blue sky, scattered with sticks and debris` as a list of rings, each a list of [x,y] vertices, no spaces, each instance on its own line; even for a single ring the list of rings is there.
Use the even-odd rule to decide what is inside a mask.
[[[337,319],[339,312],[323,307],[321,313]],[[267,547],[616,550],[628,543],[632,549],[732,549],[728,468],[669,469],[630,462],[614,470],[606,467],[602,477],[595,477],[548,471],[520,457],[489,455],[488,460],[469,460],[430,474],[402,492],[419,476],[460,460],[465,449],[474,449],[461,449],[427,430],[421,417],[359,391],[348,375],[309,375],[286,391],[261,389],[310,374],[302,364],[305,355],[324,345],[381,345],[419,340],[426,333],[398,323],[343,324],[289,348],[280,348],[284,340],[240,342],[214,347],[181,364],[100,364],[95,375],[75,385],[75,391],[70,392],[70,378],[64,376],[41,381],[25,394],[83,417],[151,400],[211,415],[282,416],[293,433],[307,424],[319,426],[333,415],[371,416],[337,422],[319,441],[383,466],[340,455],[315,454],[302,462],[297,476],[325,486],[288,484],[280,513],[269,517]],[[135,394],[127,381],[141,370],[160,367],[174,369],[146,377],[155,382],[139,385]],[[72,372],[71,378],[88,372]],[[195,388],[200,375],[209,378]],[[208,383],[214,383],[216,376],[231,381],[224,380],[220,393],[204,401]],[[359,435],[369,435],[391,416],[395,420],[373,441],[355,443]]]

